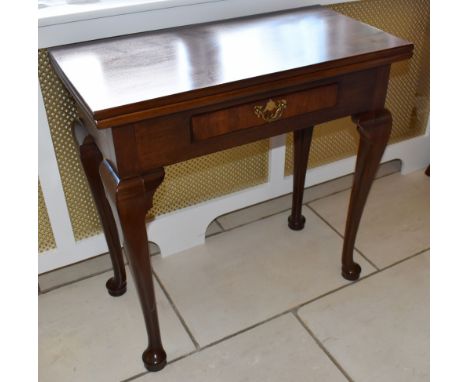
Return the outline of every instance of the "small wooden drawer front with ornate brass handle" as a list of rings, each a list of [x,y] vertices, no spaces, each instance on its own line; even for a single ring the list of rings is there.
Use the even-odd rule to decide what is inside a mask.
[[[336,105],[338,84],[280,95],[192,117],[194,141],[272,123]]]

